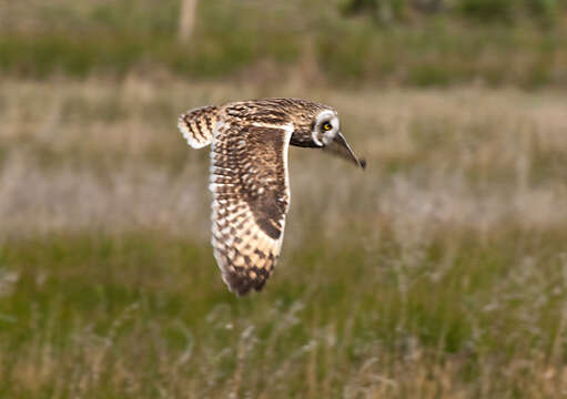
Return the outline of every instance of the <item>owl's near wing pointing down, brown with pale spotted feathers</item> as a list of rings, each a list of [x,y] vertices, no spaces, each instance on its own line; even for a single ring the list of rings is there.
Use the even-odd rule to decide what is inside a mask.
[[[211,149],[212,245],[229,288],[262,289],[282,248],[293,125],[219,122]]]

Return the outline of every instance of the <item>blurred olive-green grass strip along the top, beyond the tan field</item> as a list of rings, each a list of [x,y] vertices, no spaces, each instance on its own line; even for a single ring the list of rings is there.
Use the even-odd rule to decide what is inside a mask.
[[[58,0],[0,7],[0,71],[84,78],[161,69],[192,79],[272,80],[290,71],[335,86],[476,83],[565,88],[565,19],[548,28],[455,16],[376,27],[314,0],[259,7],[201,1],[192,41],[176,40],[179,1]]]

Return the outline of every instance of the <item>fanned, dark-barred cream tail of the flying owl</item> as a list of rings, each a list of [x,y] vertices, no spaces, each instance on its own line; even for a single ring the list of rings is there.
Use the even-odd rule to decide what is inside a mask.
[[[178,127],[193,149],[202,149],[211,144],[213,129],[219,121],[216,106],[202,106],[190,110],[178,120]]]

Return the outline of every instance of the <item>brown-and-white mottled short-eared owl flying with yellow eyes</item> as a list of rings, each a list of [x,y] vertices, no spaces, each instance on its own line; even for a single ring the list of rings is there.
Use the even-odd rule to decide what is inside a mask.
[[[204,106],[180,116],[189,145],[211,144],[213,253],[229,288],[262,289],[282,248],[290,206],[287,147],[322,149],[365,167],[327,105],[265,99]]]

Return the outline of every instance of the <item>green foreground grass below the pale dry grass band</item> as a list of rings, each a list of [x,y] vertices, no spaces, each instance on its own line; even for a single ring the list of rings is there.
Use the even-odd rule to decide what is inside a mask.
[[[555,342],[565,238],[510,231],[483,244],[465,234],[450,248],[434,242],[405,255],[388,239],[372,252],[306,246],[287,252],[261,296],[241,299],[199,242],[152,232],[8,241],[0,389],[19,398],[340,397],[383,376],[396,388],[375,387],[403,398],[424,368],[437,397],[531,397],[526,380],[547,383],[538,361],[564,361]],[[523,362],[524,371],[505,371]],[[483,381],[487,368],[495,374]]]

